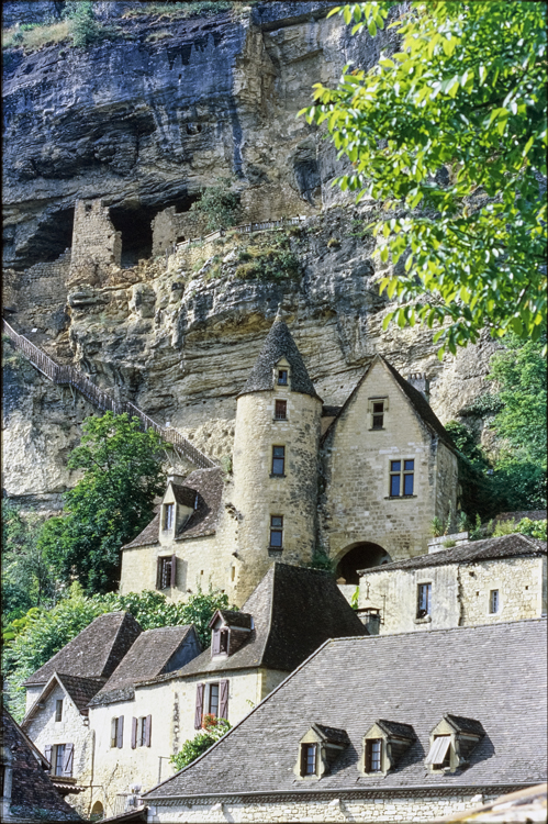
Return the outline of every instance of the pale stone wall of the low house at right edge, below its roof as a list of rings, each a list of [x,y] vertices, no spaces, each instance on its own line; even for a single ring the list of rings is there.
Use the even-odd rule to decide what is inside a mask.
[[[421,569],[367,570],[360,579],[359,608],[381,610],[381,635],[446,630],[539,617],[546,558],[497,558]],[[416,617],[417,587],[432,583],[432,612]],[[500,606],[490,613],[490,592]]]

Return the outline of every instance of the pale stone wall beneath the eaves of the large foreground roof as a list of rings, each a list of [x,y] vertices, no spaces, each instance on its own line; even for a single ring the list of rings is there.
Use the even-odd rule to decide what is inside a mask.
[[[184,800],[177,805],[153,804],[147,821],[178,824],[178,822],[423,822],[478,806],[496,798],[500,792],[482,795],[478,789],[449,790],[446,793],[398,794],[379,791],[367,799],[345,799],[344,793],[329,793],[325,800],[306,799],[245,800],[237,797]],[[512,788],[515,789],[515,788]],[[481,800],[480,800],[481,799]]]

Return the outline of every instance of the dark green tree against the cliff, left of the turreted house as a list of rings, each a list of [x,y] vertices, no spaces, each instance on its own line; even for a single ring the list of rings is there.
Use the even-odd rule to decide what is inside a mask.
[[[68,460],[83,478],[65,494],[65,514],[44,524],[38,548],[64,581],[75,576],[88,594],[115,589],[120,548],[154,517],[164,490],[161,438],[137,417],[88,417]]]

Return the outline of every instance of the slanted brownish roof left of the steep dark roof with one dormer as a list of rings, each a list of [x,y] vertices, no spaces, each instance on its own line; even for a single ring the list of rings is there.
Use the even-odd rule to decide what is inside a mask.
[[[142,633],[107,683],[90,698],[90,706],[132,699],[134,684],[165,672],[172,656],[192,632],[193,625],[188,624],[160,626]]]

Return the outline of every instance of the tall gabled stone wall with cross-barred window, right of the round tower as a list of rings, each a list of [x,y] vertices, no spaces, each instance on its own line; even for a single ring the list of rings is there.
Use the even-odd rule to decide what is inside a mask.
[[[383,428],[372,430],[371,398],[385,398]],[[445,521],[457,495],[457,458],[418,417],[376,361],[325,439],[322,542],[335,559],[361,542],[392,560],[427,552],[434,516]],[[390,498],[390,461],[414,460],[413,495]]]

